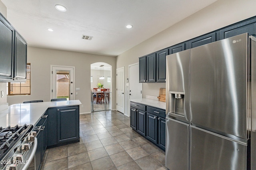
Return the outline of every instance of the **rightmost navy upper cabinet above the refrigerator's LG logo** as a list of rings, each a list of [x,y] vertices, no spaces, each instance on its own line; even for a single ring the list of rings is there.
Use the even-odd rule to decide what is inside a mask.
[[[254,23],[252,23],[254,22]],[[244,21],[236,25],[224,28],[220,30],[220,39],[225,39],[239,35],[242,33],[248,33],[249,35],[256,35],[256,19]]]

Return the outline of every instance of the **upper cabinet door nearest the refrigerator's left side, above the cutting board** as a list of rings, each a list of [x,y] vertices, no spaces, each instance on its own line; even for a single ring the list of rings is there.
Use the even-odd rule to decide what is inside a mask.
[[[165,82],[166,55],[168,55],[168,49],[165,49],[156,53],[156,81],[157,82]]]

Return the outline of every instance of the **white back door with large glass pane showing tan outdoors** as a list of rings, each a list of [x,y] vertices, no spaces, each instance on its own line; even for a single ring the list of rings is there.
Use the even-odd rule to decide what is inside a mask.
[[[51,66],[51,99],[74,100],[74,67]]]

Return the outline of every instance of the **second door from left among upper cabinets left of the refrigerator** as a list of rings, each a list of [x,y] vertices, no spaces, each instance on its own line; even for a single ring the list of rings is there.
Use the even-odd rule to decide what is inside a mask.
[[[146,82],[156,81],[156,53],[146,57]]]

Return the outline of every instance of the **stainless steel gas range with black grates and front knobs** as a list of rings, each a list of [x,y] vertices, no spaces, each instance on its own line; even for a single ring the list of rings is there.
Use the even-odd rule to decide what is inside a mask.
[[[26,170],[37,148],[33,125],[0,127],[0,170]]]

